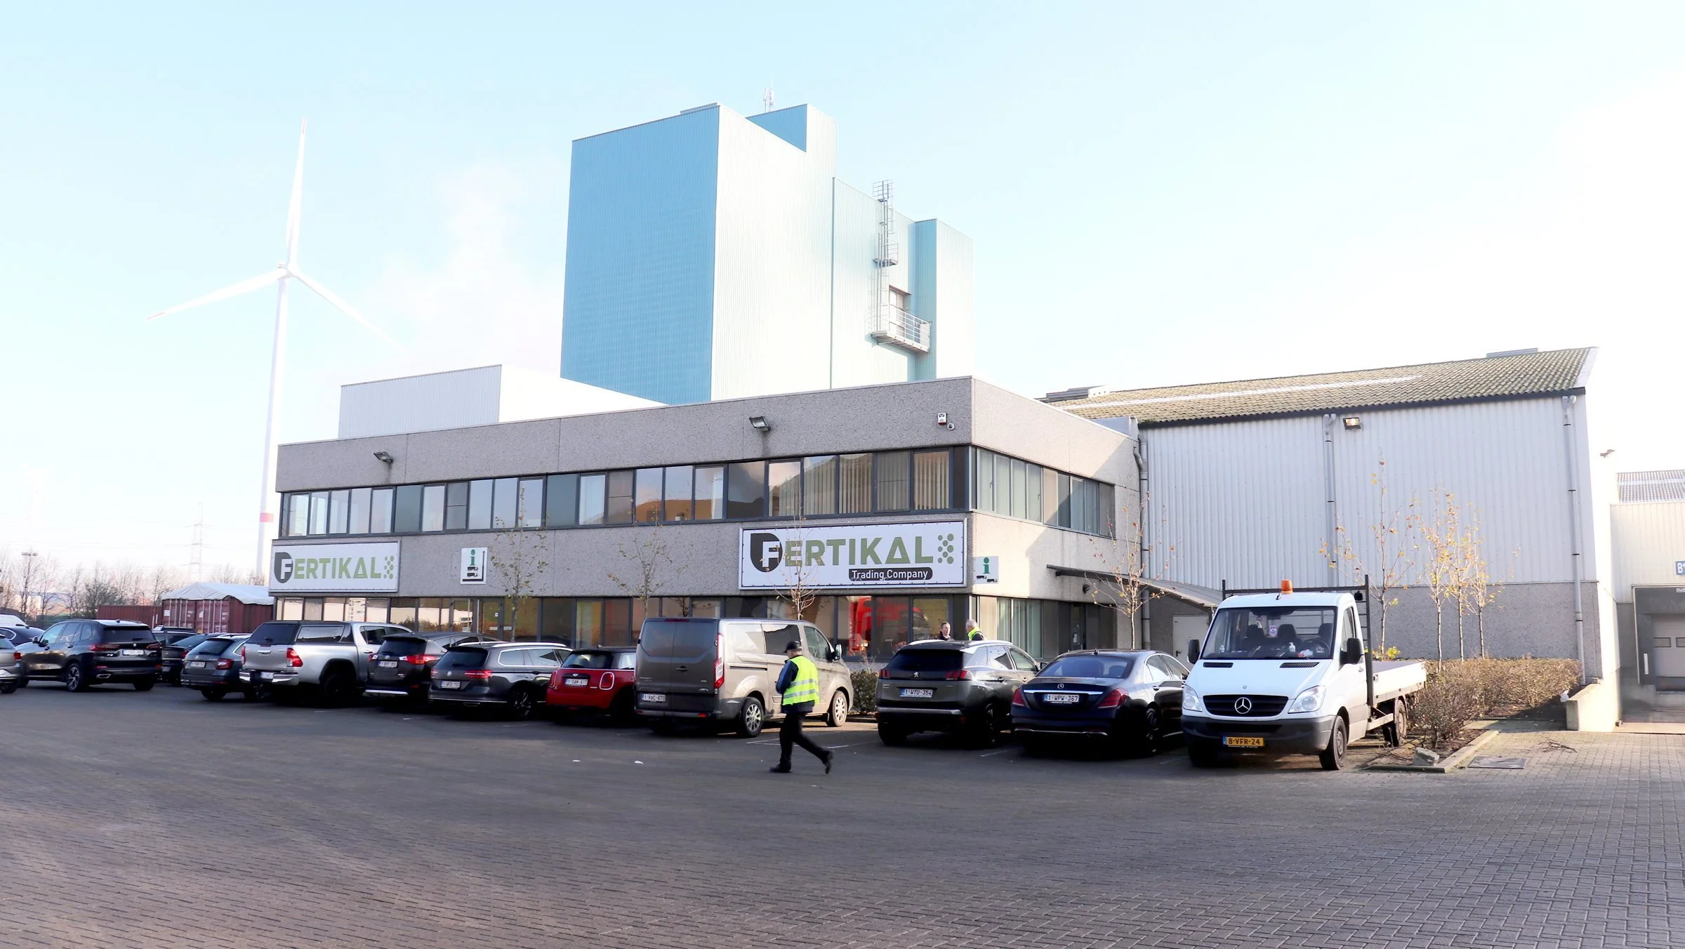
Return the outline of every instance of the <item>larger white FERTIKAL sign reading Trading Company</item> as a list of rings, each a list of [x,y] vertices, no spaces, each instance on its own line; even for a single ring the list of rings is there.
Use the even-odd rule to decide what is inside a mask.
[[[745,590],[964,587],[966,523],[745,528]]]

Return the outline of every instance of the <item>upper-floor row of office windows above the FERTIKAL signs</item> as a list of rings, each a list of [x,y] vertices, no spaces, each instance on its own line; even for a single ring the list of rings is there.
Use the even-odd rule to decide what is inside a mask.
[[[967,477],[967,462],[976,469],[972,477]],[[987,465],[987,477],[982,465]],[[1023,496],[1030,480],[1036,484],[1033,507]],[[954,511],[967,507],[966,489],[972,482],[974,497],[987,501],[977,506],[981,511],[1090,534],[1110,533],[1107,484],[982,448],[935,448],[302,491],[281,499],[281,534],[420,534]]]

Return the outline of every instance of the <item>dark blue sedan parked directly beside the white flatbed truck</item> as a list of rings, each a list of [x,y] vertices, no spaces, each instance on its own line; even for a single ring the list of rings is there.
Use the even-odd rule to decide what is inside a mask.
[[[1087,740],[1153,755],[1181,732],[1186,678],[1181,661],[1151,649],[1067,652],[1013,693],[1013,732],[1030,752]]]

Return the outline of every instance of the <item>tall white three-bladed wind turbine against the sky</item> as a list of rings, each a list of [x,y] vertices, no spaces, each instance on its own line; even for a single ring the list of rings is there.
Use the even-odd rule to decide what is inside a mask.
[[[381,337],[394,349],[398,344],[393,342],[389,335],[381,332],[379,327],[371,324],[356,307],[340,300],[332,290],[322,287],[315,280],[310,280],[298,270],[298,212],[303,206],[303,187],[305,187],[305,128],[307,123],[298,123],[298,167],[293,170],[293,197],[286,206],[286,260],[278,263],[275,270],[259,273],[249,280],[241,280],[239,283],[231,283],[212,293],[206,293],[197,300],[189,300],[177,307],[167,310],[158,310],[147,317],[155,320],[158,317],[167,317],[170,314],[179,314],[182,310],[190,310],[194,307],[202,307],[206,303],[216,303],[217,300],[227,300],[229,297],[239,297],[241,293],[251,293],[253,290],[261,290],[271,283],[278,285],[275,295],[275,347],[270,354],[270,415],[263,423],[263,489],[258,494],[258,561],[256,575],[258,582],[263,583],[270,575],[270,539],[275,536],[275,423],[281,413],[281,374],[286,367],[286,285],[297,280],[317,297],[327,300],[335,310],[345,314],[347,317],[362,324],[364,329]]]

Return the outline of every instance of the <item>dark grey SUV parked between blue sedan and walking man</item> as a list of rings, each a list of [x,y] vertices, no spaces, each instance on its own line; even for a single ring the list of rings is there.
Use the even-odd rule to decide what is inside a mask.
[[[878,738],[900,745],[913,732],[960,732],[992,745],[1011,723],[1013,691],[1040,666],[1001,641],[908,642],[878,671]]]

